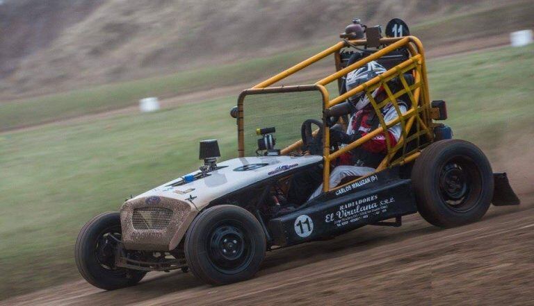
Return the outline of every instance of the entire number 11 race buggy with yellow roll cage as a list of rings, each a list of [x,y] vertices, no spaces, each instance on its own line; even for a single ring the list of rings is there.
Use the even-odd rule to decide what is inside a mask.
[[[481,219],[490,203],[519,204],[505,173],[493,173],[479,148],[452,139],[451,128],[435,122],[446,119],[446,103],[430,101],[423,45],[405,22],[392,19],[382,37],[380,26],[356,19],[340,36],[334,46],[241,92],[231,110],[238,158],[217,162],[217,141],[203,141],[198,171],[86,223],[75,250],[83,278],[111,290],[136,284],[148,271],[181,269],[209,284],[228,284],[252,278],[274,248],[367,225],[401,226],[403,216],[416,212],[435,226],[462,226]],[[327,56],[335,71],[313,85],[271,86]],[[387,71],[346,91],[347,74],[371,61]],[[387,93],[382,101],[371,95],[380,86]],[[348,98],[357,94],[368,96],[380,124],[339,146],[330,129],[346,129]],[[398,99],[410,102],[405,112]],[[381,112],[388,103],[398,114],[392,121]],[[343,153],[397,124],[402,135],[397,144],[387,141],[375,171],[330,186]],[[310,169],[322,172],[321,194],[289,203],[292,179]]]

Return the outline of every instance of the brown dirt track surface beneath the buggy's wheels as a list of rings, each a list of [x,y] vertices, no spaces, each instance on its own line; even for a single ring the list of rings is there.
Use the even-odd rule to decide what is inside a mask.
[[[191,273],[149,275],[101,291],[83,280],[5,305],[533,305],[534,194],[492,207],[483,221],[441,230],[419,215],[401,228],[368,226],[330,241],[268,253],[247,282],[209,287]]]

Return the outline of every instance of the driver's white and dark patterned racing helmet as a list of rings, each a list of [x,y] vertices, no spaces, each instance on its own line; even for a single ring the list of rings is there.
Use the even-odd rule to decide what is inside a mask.
[[[365,65],[364,67],[350,71],[347,74],[345,82],[347,92],[358,87],[358,85],[362,85],[368,80],[371,80],[371,78],[374,78],[379,74],[383,74],[384,72],[386,72],[384,66],[378,64],[378,62],[374,60],[368,62],[367,65]],[[376,97],[376,95],[380,91],[380,88],[381,87],[378,87],[376,90],[373,91],[373,93],[371,94],[373,98]],[[369,97],[365,95],[365,92],[362,92],[355,96],[351,96],[350,98],[348,98],[348,101],[352,103],[357,110],[362,110],[362,108],[366,107],[366,105],[369,104]]]

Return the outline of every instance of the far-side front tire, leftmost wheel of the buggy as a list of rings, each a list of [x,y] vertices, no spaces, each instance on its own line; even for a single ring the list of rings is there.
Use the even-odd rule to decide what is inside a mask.
[[[133,286],[140,282],[146,272],[114,268],[112,245],[106,246],[106,235],[120,238],[120,214],[104,212],[95,216],[80,230],[74,250],[76,266],[81,276],[100,289],[113,290]]]

